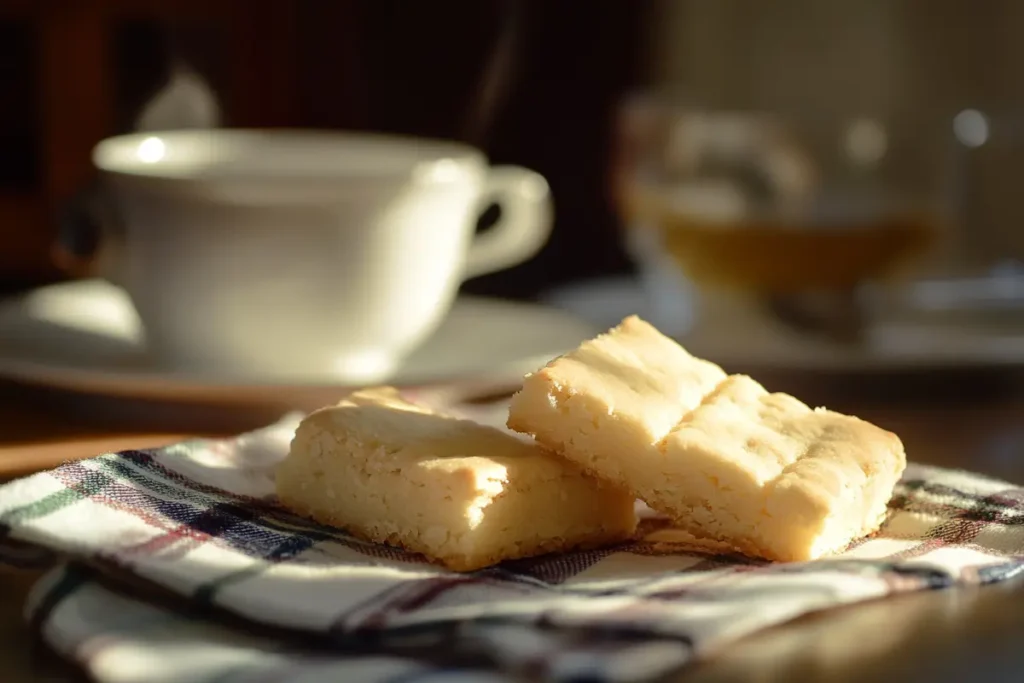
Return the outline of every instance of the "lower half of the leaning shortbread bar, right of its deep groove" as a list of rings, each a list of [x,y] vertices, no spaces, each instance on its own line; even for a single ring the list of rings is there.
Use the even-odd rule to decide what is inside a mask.
[[[732,376],[658,444],[652,508],[694,536],[772,560],[810,560],[873,532],[906,467],[884,429]],[[654,483],[654,482],[648,482]]]

